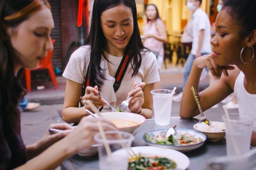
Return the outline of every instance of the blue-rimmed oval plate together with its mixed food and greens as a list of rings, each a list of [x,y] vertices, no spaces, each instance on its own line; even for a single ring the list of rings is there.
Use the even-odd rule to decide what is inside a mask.
[[[159,146],[187,152],[199,148],[206,141],[206,135],[195,130],[176,128],[176,135],[164,137],[168,129],[153,130],[144,134],[143,139],[149,146]]]

